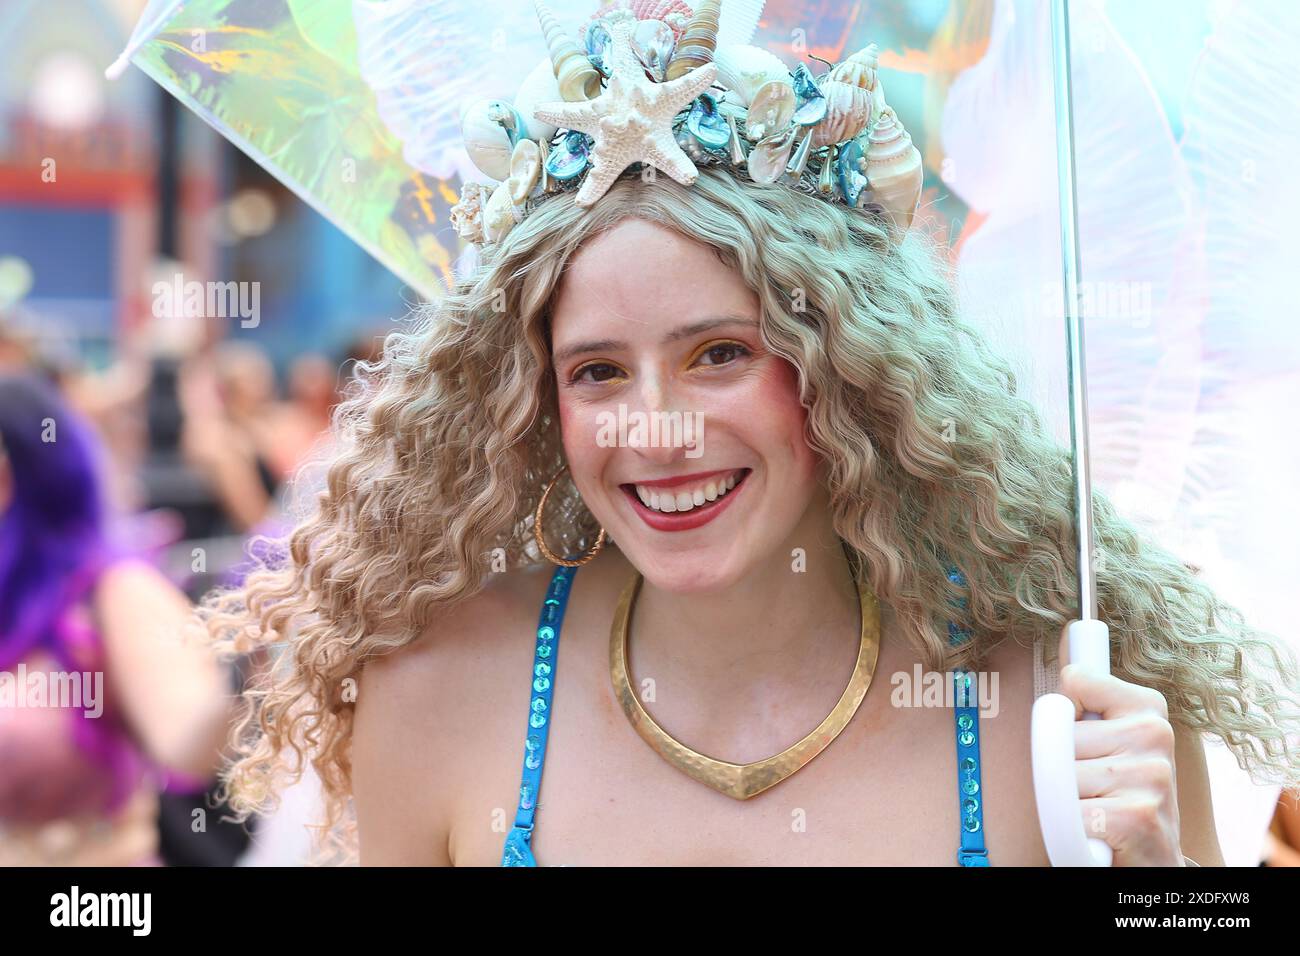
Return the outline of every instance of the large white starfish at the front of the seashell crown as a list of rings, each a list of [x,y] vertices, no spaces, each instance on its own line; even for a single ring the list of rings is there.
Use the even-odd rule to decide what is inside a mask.
[[[581,207],[593,206],[633,163],[649,163],[682,186],[693,183],[699,172],[677,146],[672,120],[718,75],[718,66],[710,62],[655,83],[632,51],[630,21],[614,23],[611,40],[610,82],[599,96],[582,103],[541,103],[533,111],[542,122],[595,139],[592,168],[575,199]]]

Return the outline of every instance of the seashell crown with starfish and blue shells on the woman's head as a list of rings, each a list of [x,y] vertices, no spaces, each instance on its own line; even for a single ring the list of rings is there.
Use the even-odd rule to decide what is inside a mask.
[[[896,237],[911,226],[920,153],[885,103],[875,44],[814,75],[760,47],[719,47],[723,0],[620,0],[581,36],[534,4],[549,56],[514,103],[462,112],[465,151],[494,181],[463,186],[462,238],[500,241],[549,194],[576,190],[590,207],[633,164],[682,185],[720,165],[875,209]]]

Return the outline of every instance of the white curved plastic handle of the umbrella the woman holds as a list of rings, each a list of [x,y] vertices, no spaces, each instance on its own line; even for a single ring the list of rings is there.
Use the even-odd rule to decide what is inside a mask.
[[[1088,674],[1110,672],[1110,628],[1104,620],[1075,620],[1069,627],[1070,662]],[[1086,713],[1084,721],[1100,714]],[[1110,844],[1083,827],[1079,777],[1074,769],[1074,701],[1045,693],[1034,702],[1031,748],[1034,796],[1043,843],[1053,866],[1110,866]]]

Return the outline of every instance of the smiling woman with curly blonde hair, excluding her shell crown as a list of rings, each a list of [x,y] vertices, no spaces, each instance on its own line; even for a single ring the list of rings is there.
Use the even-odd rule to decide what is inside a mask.
[[[289,559],[208,602],[289,645],[237,809],[298,754],[363,862],[1046,862],[1028,705],[1075,613],[1070,457],[920,238],[628,174],[540,203],[363,372]],[[611,414],[698,414],[702,454],[602,441]],[[1295,662],[1093,509],[1084,812],[1117,865],[1216,864],[1199,734],[1297,782]],[[1000,674],[996,718],[893,706],[872,675],[916,663]]]

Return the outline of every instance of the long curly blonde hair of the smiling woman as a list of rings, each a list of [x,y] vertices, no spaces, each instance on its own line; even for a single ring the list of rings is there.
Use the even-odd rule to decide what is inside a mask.
[[[532,515],[564,463],[550,307],[575,251],[625,217],[711,246],[757,293],[764,345],[798,372],[835,527],[927,666],[976,667],[1002,640],[1056,659],[1078,617],[1070,454],[958,315],[932,246],[784,185],[715,169],[690,187],[627,174],[592,209],[541,203],[473,276],[386,337],[334,412],[338,445],[311,512],[278,557],[204,600],[222,648],[276,654],[244,693],[222,775],[240,819],[272,809],[285,774],[309,760],[322,830],[355,858],[346,682],[478,592],[491,555],[542,561]],[[597,525],[576,490],[558,488],[547,512],[552,550],[590,546]],[[1160,691],[1170,721],[1222,737],[1257,778],[1300,783],[1290,648],[1101,493],[1093,512],[1113,672]],[[946,622],[963,596],[974,639],[954,648]]]

